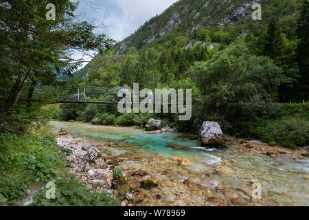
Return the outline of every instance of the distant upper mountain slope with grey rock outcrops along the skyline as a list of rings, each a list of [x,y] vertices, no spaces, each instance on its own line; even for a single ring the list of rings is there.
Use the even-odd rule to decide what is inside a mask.
[[[251,19],[254,3],[262,5],[263,14],[271,15],[263,17],[263,20],[271,19],[273,15],[281,19],[293,14],[296,10],[293,1],[181,0],[174,3],[159,16],[147,21],[124,41],[117,43],[115,52],[123,54],[130,47],[140,50],[145,45],[170,32],[194,36],[195,30],[198,30],[198,28],[213,28],[218,25],[222,27],[233,26],[240,23],[256,25],[260,22],[253,22]],[[282,8],[280,7],[282,5],[284,5],[285,10],[279,9]],[[249,27],[243,28],[245,30]]]

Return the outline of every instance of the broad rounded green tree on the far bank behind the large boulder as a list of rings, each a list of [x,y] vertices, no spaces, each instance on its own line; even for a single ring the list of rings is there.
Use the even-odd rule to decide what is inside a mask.
[[[229,103],[276,100],[282,70],[270,58],[254,56],[238,44],[197,62],[189,72],[209,109],[220,109]]]

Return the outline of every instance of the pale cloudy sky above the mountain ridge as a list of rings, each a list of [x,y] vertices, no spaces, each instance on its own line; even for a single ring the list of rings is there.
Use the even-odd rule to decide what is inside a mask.
[[[104,22],[106,28],[95,30],[108,38],[122,41],[146,21],[161,14],[177,0],[80,0],[76,15],[94,25]],[[87,3],[91,2],[91,3]],[[75,53],[74,58],[80,58]]]

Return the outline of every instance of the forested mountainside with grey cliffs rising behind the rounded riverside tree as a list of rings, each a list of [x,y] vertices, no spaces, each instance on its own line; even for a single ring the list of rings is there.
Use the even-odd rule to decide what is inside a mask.
[[[254,3],[262,6],[262,21],[253,21],[251,17]],[[120,83],[131,85],[132,80],[135,80],[135,83],[155,87],[187,77],[187,71],[195,61],[207,61],[214,52],[242,41],[252,54],[269,56],[284,69],[286,86],[285,89],[279,89],[283,93],[282,96],[279,94],[280,100],[300,101],[306,98],[304,91],[295,94],[291,89],[295,88],[300,78],[296,65],[300,5],[301,1],[298,0],[177,1],[124,41],[116,43],[113,54],[119,55],[117,58],[111,58],[111,55],[96,57],[76,76],[90,77],[92,81],[99,74],[93,70],[100,69],[100,75],[104,72],[107,74],[104,69],[111,71],[111,62],[106,62],[108,57],[108,61],[115,61],[115,68],[112,69],[115,77],[119,78],[117,83],[121,80]],[[137,63],[139,67],[135,67]],[[126,73],[121,71],[122,67]],[[131,70],[134,73],[130,73]],[[146,83],[148,78],[156,81]],[[104,74],[97,79],[106,81]],[[107,82],[107,86],[117,85],[116,81],[112,85]]]

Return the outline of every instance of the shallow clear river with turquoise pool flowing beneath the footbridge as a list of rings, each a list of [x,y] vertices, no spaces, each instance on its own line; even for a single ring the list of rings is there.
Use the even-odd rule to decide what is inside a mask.
[[[149,134],[147,131],[133,127],[99,126],[80,122],[50,122],[52,131],[66,129],[70,135],[84,137],[89,142],[117,142],[118,154],[132,158],[140,155],[140,161],[124,162],[124,168],[144,168],[157,174],[162,180],[177,179],[183,182],[190,179],[192,184],[216,190],[218,186],[228,186],[239,190],[238,195],[250,202],[250,195],[243,193],[250,189],[252,179],[262,186],[262,197],[267,200],[260,205],[309,206],[309,160],[293,157],[273,158],[240,151],[238,142],[227,142],[227,148],[201,148],[191,134],[159,133]],[[161,156],[156,161],[149,160]],[[179,166],[171,158],[185,158],[190,161],[187,166]],[[231,175],[218,175],[215,169],[220,162],[228,162],[233,170]],[[164,175],[163,170],[172,170],[171,175]],[[214,175],[210,177],[201,171]],[[252,190],[252,189],[251,189]],[[225,193],[227,194],[227,193]],[[161,205],[164,203],[160,203]]]

